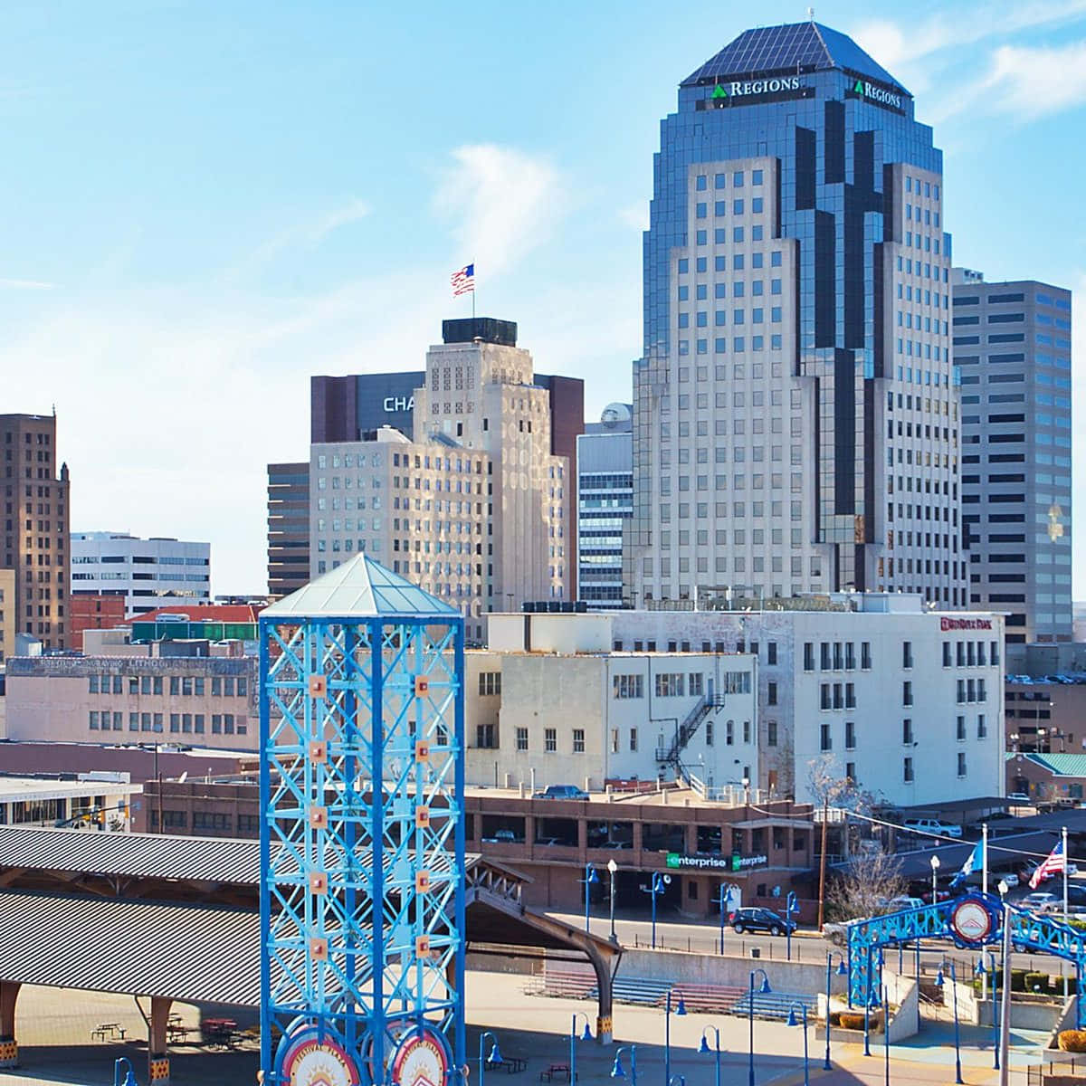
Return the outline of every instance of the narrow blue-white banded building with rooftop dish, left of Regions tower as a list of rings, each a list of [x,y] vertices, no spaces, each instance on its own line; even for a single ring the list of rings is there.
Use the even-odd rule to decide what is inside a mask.
[[[622,526],[633,515],[630,404],[608,404],[577,439],[577,598],[622,606]]]

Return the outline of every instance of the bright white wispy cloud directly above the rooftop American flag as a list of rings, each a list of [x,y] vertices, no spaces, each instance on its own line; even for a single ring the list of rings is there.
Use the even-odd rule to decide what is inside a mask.
[[[480,143],[453,151],[434,195],[434,209],[459,244],[458,260],[473,261],[484,279],[523,258],[565,214],[558,171],[542,155]]]

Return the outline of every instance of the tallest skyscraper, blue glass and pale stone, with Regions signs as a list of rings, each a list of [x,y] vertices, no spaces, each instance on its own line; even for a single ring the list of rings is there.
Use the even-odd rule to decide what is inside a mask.
[[[660,131],[629,603],[962,606],[950,239],[912,97],[835,30],[762,27],[682,81]]]

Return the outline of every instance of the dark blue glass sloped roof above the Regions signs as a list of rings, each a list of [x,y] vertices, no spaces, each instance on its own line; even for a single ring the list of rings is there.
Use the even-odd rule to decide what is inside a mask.
[[[909,92],[845,34],[821,23],[790,23],[744,30],[731,45],[707,60],[681,86],[693,87],[723,76],[797,68],[846,68]]]

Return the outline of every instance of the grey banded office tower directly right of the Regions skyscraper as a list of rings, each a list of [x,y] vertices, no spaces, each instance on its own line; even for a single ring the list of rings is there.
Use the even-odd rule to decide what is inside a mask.
[[[1010,643],[1073,640],[1071,292],[954,269],[970,599]]]

